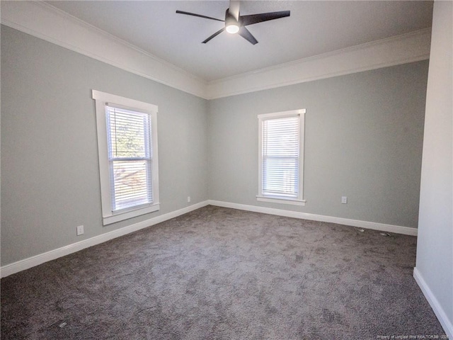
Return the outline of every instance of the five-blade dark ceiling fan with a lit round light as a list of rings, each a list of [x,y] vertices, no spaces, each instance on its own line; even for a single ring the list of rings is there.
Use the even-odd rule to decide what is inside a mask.
[[[278,18],[285,18],[285,16],[289,16],[289,11],[278,11],[278,12],[269,12],[269,13],[259,13],[259,14],[251,14],[249,16],[241,16],[239,15],[239,1],[231,0],[229,1],[229,8],[226,9],[225,12],[225,20],[212,18],[210,16],[202,16],[201,14],[197,13],[190,13],[185,11],[176,11],[179,14],[185,14],[188,16],[198,16],[200,18],[215,20],[215,21],[222,21],[225,23],[225,27],[217,30],[216,33],[211,35],[209,38],[204,40],[202,43],[205,44],[206,42],[210,41],[212,38],[217,37],[220,33],[224,30],[226,32],[234,34],[238,33],[241,35],[242,38],[246,39],[248,42],[251,42],[253,45],[258,43],[258,40],[253,37],[252,33],[246,28],[248,25],[252,25],[253,23],[262,23],[263,21],[274,20]]]

